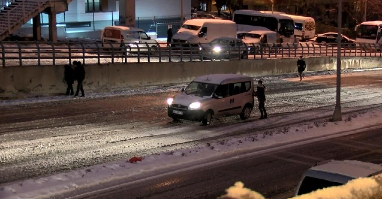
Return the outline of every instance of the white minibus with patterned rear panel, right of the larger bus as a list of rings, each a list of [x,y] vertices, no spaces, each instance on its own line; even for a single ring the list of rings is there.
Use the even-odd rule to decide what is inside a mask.
[[[313,18],[298,15],[288,16],[295,21],[295,36],[300,40],[313,39],[316,34],[316,22]]]

